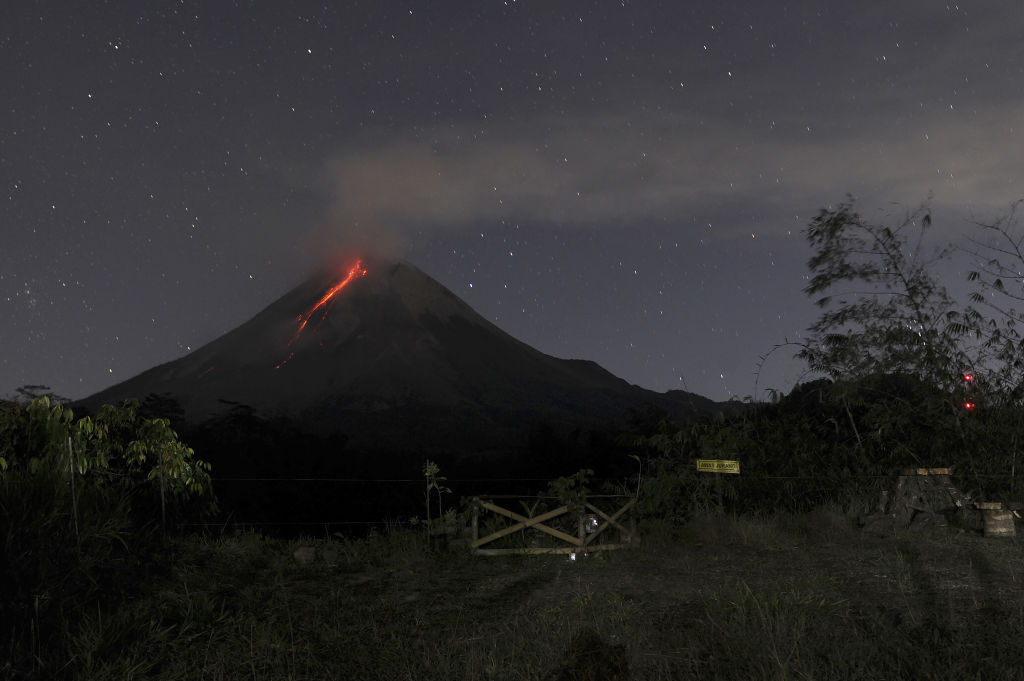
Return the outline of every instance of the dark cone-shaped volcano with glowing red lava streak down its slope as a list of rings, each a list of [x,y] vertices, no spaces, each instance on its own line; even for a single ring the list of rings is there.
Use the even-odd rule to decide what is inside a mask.
[[[559,359],[477,314],[406,261],[324,270],[220,338],[83,400],[170,398],[191,424],[246,406],[348,448],[508,450],[539,423],[609,423],[653,405],[678,419],[718,410],[656,393],[593,361]]]

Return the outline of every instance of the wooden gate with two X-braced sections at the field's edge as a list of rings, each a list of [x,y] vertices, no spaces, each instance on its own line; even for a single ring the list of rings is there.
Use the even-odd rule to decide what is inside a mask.
[[[497,499],[493,498],[493,499]],[[514,498],[512,498],[514,499]],[[638,544],[640,542],[640,537],[636,531],[636,517],[633,514],[629,516],[629,525],[627,526],[623,522],[624,516],[634,509],[636,505],[636,500],[632,498],[625,497],[601,497],[601,499],[629,499],[618,510],[611,514],[606,513],[597,506],[594,506],[589,501],[584,501],[582,504],[582,509],[577,512],[577,535],[573,537],[562,529],[557,527],[552,527],[550,524],[546,524],[552,520],[555,520],[561,516],[569,516],[569,507],[567,505],[560,506],[553,511],[548,511],[547,513],[542,513],[541,515],[535,517],[526,517],[515,511],[510,511],[507,508],[495,504],[493,501],[484,501],[481,499],[475,499],[473,503],[473,519],[472,519],[472,544],[470,544],[473,553],[483,556],[498,556],[506,554],[523,554],[523,553],[588,553],[590,551],[603,551],[607,549],[623,549],[628,546]],[[479,535],[479,518],[481,511],[489,511],[496,513],[500,516],[504,516],[513,520],[513,524],[505,526],[501,529],[493,531],[486,537],[480,537]],[[537,529],[545,535],[554,537],[556,540],[562,543],[561,546],[553,547],[534,547],[524,546],[521,548],[511,548],[511,549],[485,549],[483,546],[495,542],[496,540],[502,539],[503,537],[508,537],[509,535],[514,535],[515,533],[523,533],[527,529]],[[598,540],[605,534],[605,530],[613,528],[618,533],[618,541],[612,544],[602,544]]]

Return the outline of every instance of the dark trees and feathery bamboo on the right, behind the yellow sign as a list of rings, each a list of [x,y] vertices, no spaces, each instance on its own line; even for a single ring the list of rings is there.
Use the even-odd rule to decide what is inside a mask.
[[[821,312],[776,349],[816,378],[732,419],[652,426],[648,415],[632,433],[647,456],[648,515],[852,508],[905,467],[952,467],[976,499],[1020,497],[1024,237],[1014,209],[980,225],[970,250],[929,247],[931,226],[927,207],[884,225],[852,201],[810,222],[805,293]],[[957,252],[976,266],[966,301],[937,273]],[[739,460],[742,473],[698,474],[700,458]]]

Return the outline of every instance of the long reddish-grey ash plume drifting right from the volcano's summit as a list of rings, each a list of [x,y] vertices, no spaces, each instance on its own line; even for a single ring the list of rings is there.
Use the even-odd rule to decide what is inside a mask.
[[[816,212],[848,193],[911,207],[933,193],[942,206],[996,210],[1022,188],[1016,159],[1006,154],[1020,134],[1015,111],[1008,102],[888,127],[837,117],[822,130],[785,120],[757,129],[621,114],[537,117],[486,134],[426,131],[421,138],[429,142],[396,140],[333,157],[327,223],[357,246],[400,250],[415,233],[496,220],[621,228],[738,205],[760,205],[774,220]]]

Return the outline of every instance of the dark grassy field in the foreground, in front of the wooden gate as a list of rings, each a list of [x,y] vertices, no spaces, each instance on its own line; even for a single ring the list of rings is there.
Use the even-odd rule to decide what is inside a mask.
[[[315,557],[297,560],[300,547]],[[872,537],[824,512],[703,518],[575,561],[428,552],[419,535],[242,535],[175,540],[170,565],[127,607],[69,623],[67,667],[46,673],[1024,678],[1018,544],[947,529]]]

